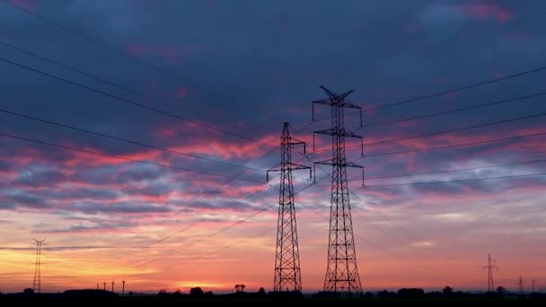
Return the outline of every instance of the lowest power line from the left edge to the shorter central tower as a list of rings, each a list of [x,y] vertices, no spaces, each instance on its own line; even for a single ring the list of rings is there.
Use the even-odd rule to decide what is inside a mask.
[[[236,180],[242,180],[242,181],[263,183],[263,182],[258,181],[258,180],[246,180],[246,179],[236,178],[236,177],[233,177],[233,176],[227,176],[227,175],[222,175],[222,174],[215,174],[215,173],[204,172],[204,171],[189,170],[189,169],[181,168],[181,167],[178,167],[178,166],[172,166],[172,165],[167,165],[167,164],[162,164],[162,163],[131,159],[131,158],[126,158],[126,157],[122,157],[122,156],[115,155],[115,154],[110,154],[110,153],[99,153],[99,152],[94,152],[94,151],[87,150],[87,149],[82,149],[82,148],[77,148],[77,147],[72,147],[72,146],[67,146],[67,145],[58,145],[58,144],[49,143],[49,142],[40,141],[40,140],[31,139],[31,138],[22,137],[22,136],[13,136],[13,135],[9,135],[9,134],[6,134],[6,133],[0,133],[0,136],[11,137],[11,138],[14,138],[14,139],[19,139],[19,140],[22,140],[22,141],[27,141],[27,142],[41,144],[41,145],[49,145],[49,146],[54,146],[54,147],[58,147],[58,148],[69,149],[69,150],[72,150],[72,151],[75,151],[75,152],[80,152],[80,153],[90,153],[90,154],[94,154],[94,155],[100,155],[100,156],[104,156],[104,157],[115,158],[115,159],[119,159],[119,160],[125,160],[125,161],[128,161],[128,162],[138,162],[138,163],[143,163],[143,164],[148,164],[148,165],[160,166],[160,167],[163,167],[163,168],[177,170],[177,171],[189,171],[189,172],[194,172],[194,173],[207,175],[207,176],[224,177],[224,178],[229,178],[229,179],[236,179]]]

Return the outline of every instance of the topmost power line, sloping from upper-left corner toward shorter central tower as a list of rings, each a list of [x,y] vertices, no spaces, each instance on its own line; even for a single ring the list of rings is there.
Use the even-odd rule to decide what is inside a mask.
[[[60,29],[62,29],[62,30],[64,30],[64,31],[68,31],[68,32],[74,34],[75,36],[80,37],[81,39],[85,39],[85,40],[87,40],[87,41],[92,42],[93,44],[95,44],[95,45],[97,45],[97,46],[100,46],[101,48],[108,49],[108,50],[110,50],[110,51],[112,51],[112,52],[118,54],[118,55],[121,56],[121,57],[125,57],[125,58],[128,58],[128,59],[130,59],[130,60],[137,61],[139,64],[141,64],[141,65],[143,65],[143,66],[146,66],[146,67],[148,67],[148,68],[151,68],[151,69],[153,69],[155,72],[157,72],[157,73],[159,73],[159,74],[161,74],[161,75],[164,75],[164,76],[167,76],[167,77],[176,79],[176,80],[180,81],[181,83],[184,83],[184,84],[186,84],[186,85],[188,85],[188,86],[190,86],[190,87],[193,87],[193,88],[195,88],[195,89],[198,89],[198,90],[201,91],[201,92],[206,92],[207,94],[209,94],[209,95],[211,95],[211,96],[213,96],[213,97],[216,97],[216,99],[219,99],[219,100],[222,100],[222,101],[228,101],[228,102],[234,103],[234,104],[239,104],[239,101],[234,101],[234,100],[228,99],[228,98],[226,98],[225,96],[220,95],[220,94],[218,94],[218,93],[216,93],[216,92],[213,92],[213,91],[211,91],[210,89],[208,89],[208,88],[206,88],[206,87],[200,86],[200,85],[198,85],[198,84],[196,84],[196,83],[191,83],[191,82],[189,82],[189,80],[186,79],[186,78],[182,78],[182,77],[179,76],[179,75],[175,75],[175,74],[173,74],[173,73],[171,73],[171,72],[168,72],[168,71],[166,71],[166,70],[164,70],[164,69],[159,68],[158,66],[154,66],[153,64],[151,64],[151,63],[149,63],[149,62],[143,60],[142,58],[133,57],[133,56],[129,55],[128,53],[126,53],[126,52],[124,52],[124,51],[121,51],[119,48],[112,47],[112,46],[110,46],[109,44],[106,44],[106,43],[104,43],[104,42],[101,42],[101,41],[98,40],[98,39],[92,39],[90,36],[85,35],[84,33],[80,32],[80,31],[75,31],[74,29],[72,29],[72,28],[70,28],[70,27],[68,27],[68,26],[66,26],[66,25],[64,25],[64,24],[61,24],[61,23],[59,23],[59,22],[55,22],[55,21],[53,21],[52,19],[49,19],[49,18],[46,17],[46,16],[40,15],[39,13],[32,12],[31,10],[27,10],[27,9],[25,9],[24,7],[19,6],[19,5],[17,5],[17,4],[13,4],[13,3],[11,3],[11,2],[9,2],[9,1],[7,1],[7,0],[4,0],[4,3],[10,4],[11,6],[13,6],[13,7],[15,7],[15,8],[18,8],[18,9],[22,10],[22,11],[25,12],[25,13],[30,13],[31,15],[33,15],[33,16],[39,18],[40,20],[42,20],[42,21],[44,21],[44,22],[48,22],[48,23],[50,23],[50,24],[53,24],[53,25],[55,25],[57,28],[60,28]],[[267,118],[267,117],[266,117],[266,118]]]

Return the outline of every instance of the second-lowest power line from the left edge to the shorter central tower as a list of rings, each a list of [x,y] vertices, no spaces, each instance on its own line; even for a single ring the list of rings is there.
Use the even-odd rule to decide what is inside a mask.
[[[81,127],[69,126],[69,125],[62,124],[62,123],[59,123],[59,122],[55,122],[55,121],[52,121],[52,120],[48,120],[48,119],[44,119],[44,118],[36,118],[36,117],[29,116],[29,115],[24,115],[22,113],[13,112],[13,111],[10,111],[10,110],[0,109],[0,112],[4,112],[6,114],[10,114],[10,115],[17,116],[17,117],[20,117],[20,118],[28,118],[28,119],[35,120],[35,121],[40,121],[42,123],[46,123],[46,124],[49,124],[49,125],[54,125],[54,126],[57,126],[57,127],[66,127],[68,129],[84,132],[84,133],[94,135],[94,136],[106,137],[106,138],[110,138],[110,139],[113,139],[113,140],[129,143],[129,144],[133,144],[133,145],[139,145],[139,146],[143,146],[143,147],[147,147],[147,148],[152,148],[152,149],[160,150],[160,151],[163,151],[163,152],[166,152],[166,153],[176,153],[176,154],[189,156],[191,158],[205,160],[205,161],[208,161],[208,162],[216,162],[216,163],[221,163],[221,164],[225,164],[225,165],[241,167],[241,168],[251,170],[251,171],[261,171],[261,170],[251,168],[251,167],[248,167],[248,166],[245,166],[245,165],[240,165],[240,164],[235,164],[235,163],[232,163],[232,162],[224,162],[224,161],[219,161],[219,160],[215,160],[215,159],[210,159],[210,158],[202,157],[202,156],[199,156],[199,155],[193,154],[193,153],[182,153],[182,152],[179,152],[179,151],[174,151],[174,150],[171,150],[171,149],[168,149],[168,148],[163,148],[163,147],[159,147],[159,146],[155,146],[155,145],[147,145],[145,143],[130,140],[130,139],[127,139],[127,138],[122,138],[122,137],[119,137],[119,136],[109,136],[107,134],[103,134],[103,133],[100,133],[100,132],[95,132],[95,131],[92,131],[92,130],[87,130],[87,129],[84,129],[84,128],[81,128]]]

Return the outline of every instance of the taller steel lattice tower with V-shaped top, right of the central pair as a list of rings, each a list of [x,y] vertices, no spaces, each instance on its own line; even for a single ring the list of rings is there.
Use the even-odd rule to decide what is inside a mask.
[[[321,89],[328,95],[328,99],[313,101],[313,120],[314,104],[328,105],[331,107],[331,127],[314,133],[328,135],[332,139],[332,158],[314,162],[315,164],[332,166],[330,239],[328,241],[328,268],[326,268],[324,292],[349,295],[362,294],[362,285],[360,284],[357,269],[357,252],[355,251],[353,237],[351,206],[348,198],[347,168],[363,169],[363,167],[355,162],[349,162],[345,157],[346,137],[357,137],[362,142],[362,136],[357,136],[345,128],[345,108],[358,110],[361,110],[361,108],[354,103],[345,101],[345,98],[353,91],[337,95],[324,86],[321,86]],[[360,111],[360,125],[362,125],[362,110]]]

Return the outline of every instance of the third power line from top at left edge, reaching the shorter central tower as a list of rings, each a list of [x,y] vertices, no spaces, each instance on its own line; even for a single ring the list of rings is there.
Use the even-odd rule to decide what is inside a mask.
[[[236,134],[236,133],[233,133],[231,131],[228,131],[228,130],[225,130],[225,129],[221,129],[221,128],[217,128],[217,127],[214,127],[214,126],[210,126],[208,124],[204,124],[204,123],[201,123],[201,122],[198,122],[197,120],[193,120],[193,119],[189,119],[189,118],[183,118],[179,115],[176,115],[176,114],[172,114],[171,112],[167,112],[167,111],[164,111],[164,110],[159,110],[159,109],[156,109],[154,107],[150,107],[150,106],[147,106],[143,103],[140,103],[140,102],[137,102],[137,101],[131,101],[131,100],[128,100],[128,99],[125,99],[125,98],[122,98],[122,97],[119,97],[117,95],[113,95],[113,94],[110,94],[108,92],[103,92],[101,90],[97,90],[95,88],[92,88],[90,86],[87,86],[87,85],[84,85],[82,83],[76,83],[76,82],[73,82],[73,81],[70,81],[70,80],[67,80],[65,78],[62,78],[62,77],[59,77],[57,75],[51,75],[51,74],[48,74],[46,72],[43,72],[43,71],[40,71],[38,69],[35,69],[35,68],[32,68],[30,66],[24,66],[22,64],[19,64],[19,63],[15,63],[13,61],[10,61],[10,60],[7,60],[5,58],[2,58],[0,57],[0,61],[4,62],[4,63],[7,63],[7,64],[10,64],[10,65],[13,65],[13,66],[18,66],[20,68],[23,68],[23,69],[26,69],[26,70],[29,70],[33,73],[36,73],[36,74],[39,74],[39,75],[45,75],[45,76],[48,76],[49,78],[52,78],[52,79],[56,79],[58,81],[61,81],[61,82],[64,82],[64,83],[69,83],[69,84],[72,84],[72,85],[75,85],[77,87],[80,87],[84,90],[87,90],[87,91],[90,91],[90,92],[97,92],[97,93],[100,93],[104,96],[107,96],[107,97],[110,97],[112,99],[115,99],[117,101],[122,101],[122,102],[125,102],[125,103],[128,103],[130,105],[134,105],[134,106],[137,106],[141,109],[145,109],[145,110],[151,110],[151,111],[154,111],[155,113],[159,113],[159,114],[163,114],[164,116],[167,116],[167,117],[170,117],[170,118],[177,118],[177,119],[180,119],[182,121],[186,121],[186,122],[189,122],[189,123],[192,123],[192,124],[195,124],[195,125],[198,125],[198,126],[201,126],[201,127],[207,127],[209,129],[213,129],[213,130],[216,130],[218,132],[222,132],[222,133],[225,133],[226,135],[230,135],[230,136],[237,136],[237,137],[241,137],[243,139],[246,139],[248,141],[251,141],[251,142],[255,142],[255,143],[260,143],[261,145],[268,145],[269,147],[276,147],[274,145],[269,145],[267,143],[264,143],[264,142],[261,142],[260,140],[257,140],[257,139],[254,139],[254,138],[251,138],[251,137],[248,137],[248,136],[242,136],[242,135],[239,135],[239,134]]]

